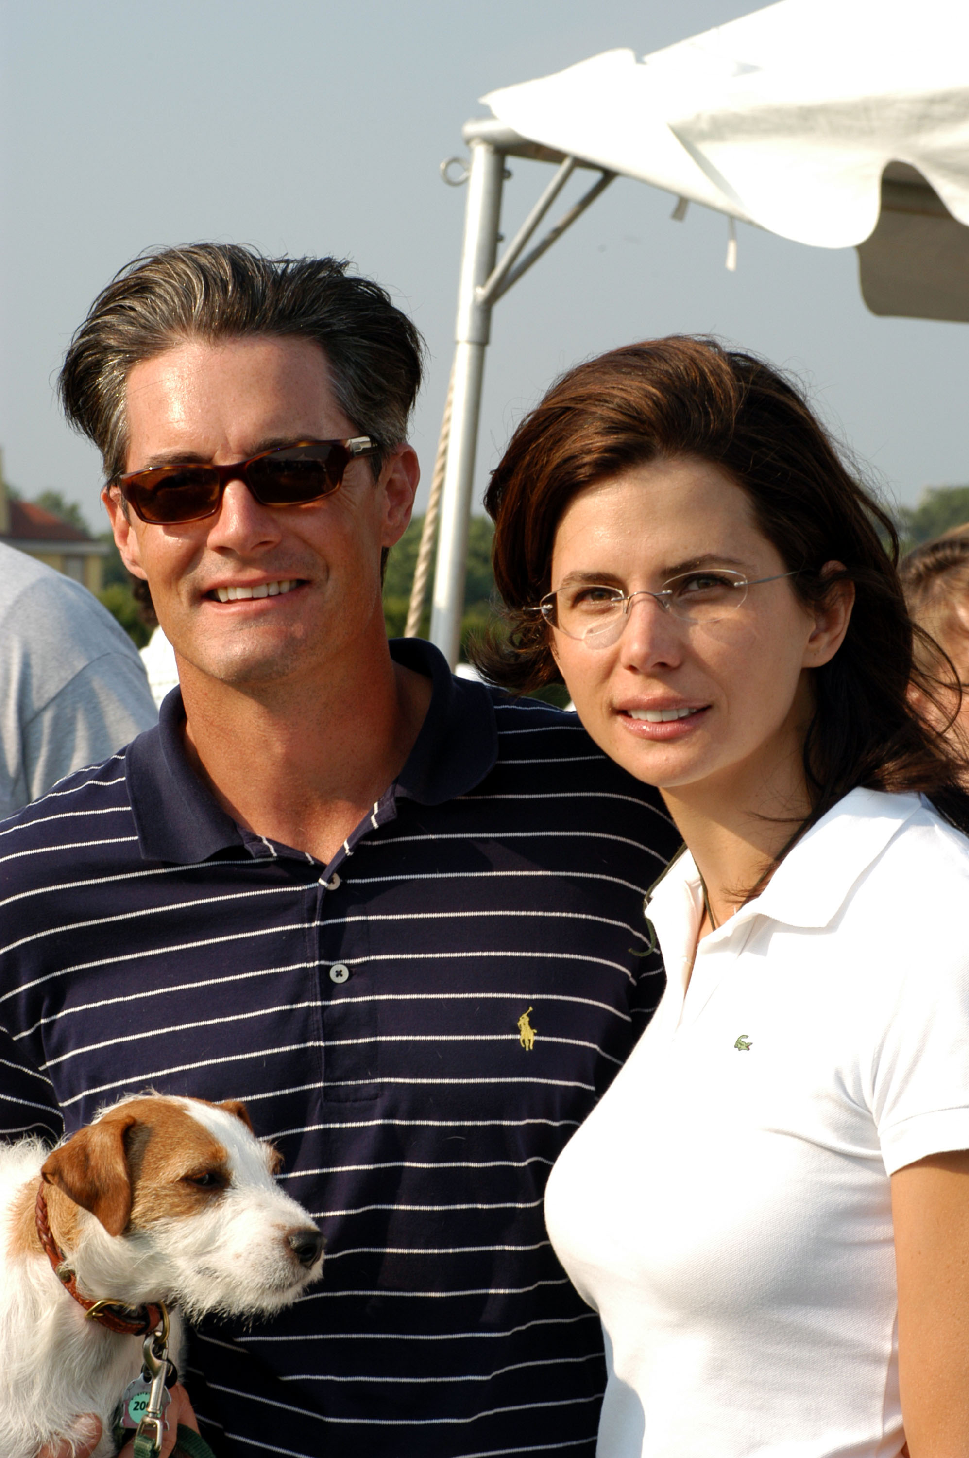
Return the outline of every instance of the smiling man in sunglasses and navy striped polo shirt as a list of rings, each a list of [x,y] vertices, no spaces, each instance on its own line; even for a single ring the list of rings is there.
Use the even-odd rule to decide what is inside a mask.
[[[137,260],[63,372],[181,693],[4,827],[0,1111],[60,1133],[150,1085],[278,1145],[326,1266],[197,1336],[233,1458],[595,1451],[599,1322],[542,1191],[656,1003],[676,835],[574,716],[388,644],[418,382],[376,284],[223,245]]]

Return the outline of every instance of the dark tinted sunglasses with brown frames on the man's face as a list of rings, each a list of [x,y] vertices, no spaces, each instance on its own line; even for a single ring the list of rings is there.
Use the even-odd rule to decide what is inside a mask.
[[[235,465],[156,465],[119,475],[111,484],[143,522],[173,526],[214,516],[230,481],[243,481],[261,506],[319,502],[340,490],[351,461],[374,451],[370,436],[297,440]]]

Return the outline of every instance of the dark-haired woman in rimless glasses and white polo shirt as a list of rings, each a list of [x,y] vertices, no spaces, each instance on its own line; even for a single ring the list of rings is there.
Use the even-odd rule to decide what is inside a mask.
[[[667,991],[546,1194],[600,1458],[969,1454],[969,806],[890,521],[790,383],[689,338],[558,381],[487,506],[479,666],[561,677],[686,844]]]

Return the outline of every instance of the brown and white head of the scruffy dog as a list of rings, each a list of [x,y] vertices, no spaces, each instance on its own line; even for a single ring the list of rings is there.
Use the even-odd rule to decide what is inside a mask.
[[[319,1276],[322,1236],[277,1168],[242,1104],[150,1095],[105,1110],[41,1174],[87,1212],[70,1257],[89,1295],[197,1318],[277,1311]]]

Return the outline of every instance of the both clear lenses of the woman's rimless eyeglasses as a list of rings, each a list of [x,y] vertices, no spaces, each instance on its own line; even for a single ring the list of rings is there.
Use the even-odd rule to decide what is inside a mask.
[[[660,605],[683,623],[715,623],[733,612],[746,598],[748,579],[739,572],[686,572],[664,582],[656,596]],[[640,593],[634,593],[640,596]],[[551,621],[570,637],[584,639],[619,628],[625,621],[629,598],[619,588],[576,586],[549,593]],[[548,614],[546,614],[548,615]]]

